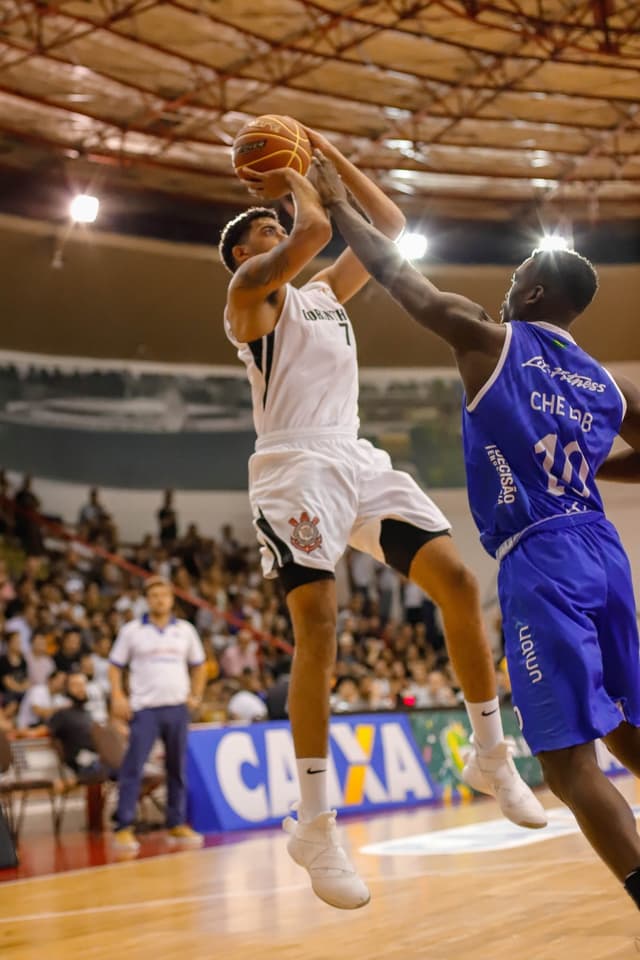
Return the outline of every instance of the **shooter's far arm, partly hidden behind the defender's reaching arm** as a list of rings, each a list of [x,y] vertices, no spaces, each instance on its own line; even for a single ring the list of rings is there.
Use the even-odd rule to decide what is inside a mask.
[[[371,223],[385,237],[397,240],[405,227],[399,207],[355,164],[315,130],[306,128],[312,145],[334,164],[345,187],[364,210]],[[351,249],[345,250],[330,267],[316,274],[314,280],[328,283],[341,303],[346,303],[369,280],[370,273]]]

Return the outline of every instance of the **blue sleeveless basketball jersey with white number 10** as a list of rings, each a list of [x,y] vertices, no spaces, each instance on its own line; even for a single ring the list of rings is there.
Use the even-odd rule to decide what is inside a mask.
[[[515,322],[506,334],[493,375],[463,410],[471,512],[499,558],[533,525],[604,514],[595,477],[626,409],[608,371],[565,330]]]

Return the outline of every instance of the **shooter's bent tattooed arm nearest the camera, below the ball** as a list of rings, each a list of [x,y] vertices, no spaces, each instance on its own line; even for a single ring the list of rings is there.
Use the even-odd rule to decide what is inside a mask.
[[[309,180],[288,169],[274,171],[276,175],[286,180],[293,196],[293,229],[267,253],[246,260],[233,275],[227,295],[228,317],[234,337],[242,343],[271,333],[279,309],[267,298],[272,299],[272,294],[293,280],[331,239],[329,218]],[[263,229],[276,230],[277,224],[266,221]]]

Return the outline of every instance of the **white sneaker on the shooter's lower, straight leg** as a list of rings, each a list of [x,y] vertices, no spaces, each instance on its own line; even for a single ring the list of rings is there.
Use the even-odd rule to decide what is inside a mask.
[[[369,903],[369,888],[338,843],[335,810],[321,813],[309,823],[287,817],[282,828],[290,834],[289,856],[308,872],[316,896],[340,910],[355,910]]]

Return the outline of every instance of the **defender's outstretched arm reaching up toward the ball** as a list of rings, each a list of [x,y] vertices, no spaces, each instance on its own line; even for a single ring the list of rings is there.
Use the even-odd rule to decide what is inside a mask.
[[[318,151],[312,179],[342,236],[371,276],[414,320],[453,347],[467,395],[474,396],[500,356],[504,327],[493,323],[477,303],[443,293],[416,270],[393,241],[353,209],[335,167]]]

